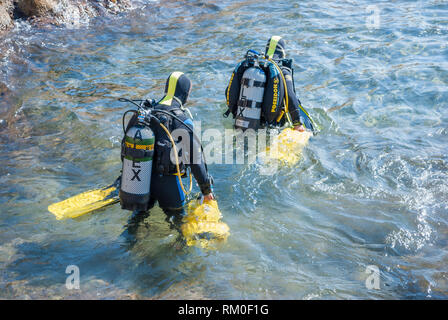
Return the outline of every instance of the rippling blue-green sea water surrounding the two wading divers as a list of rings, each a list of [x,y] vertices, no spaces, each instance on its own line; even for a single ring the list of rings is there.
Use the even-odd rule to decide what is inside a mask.
[[[19,23],[0,44],[0,298],[448,298],[448,3],[377,2],[378,28],[369,4],[161,1],[77,28]],[[226,244],[181,246],[159,208],[133,246],[118,205],[47,211],[115,179],[116,98],[161,97],[175,69],[203,130],[230,128],[231,71],[273,34],[322,131],[274,176],[210,165]]]

